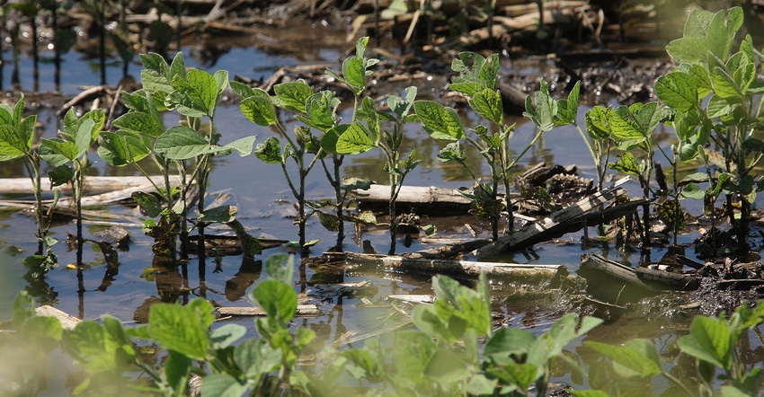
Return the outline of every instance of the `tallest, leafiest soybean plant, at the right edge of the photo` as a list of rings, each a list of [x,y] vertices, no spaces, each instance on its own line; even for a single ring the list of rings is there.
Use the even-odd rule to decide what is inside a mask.
[[[742,20],[740,7],[690,13],[683,37],[666,47],[676,67],[658,78],[655,93],[673,110],[672,125],[679,137],[674,151],[680,160],[697,159],[706,167],[705,178],[692,175],[683,181],[685,196],[704,199],[710,213],[724,192],[725,215],[744,246],[751,206],[764,189],[764,180],[753,173],[764,158],[764,81],[756,73],[764,55],[750,35],[735,40]],[[707,182],[706,190],[697,186],[701,180]]]

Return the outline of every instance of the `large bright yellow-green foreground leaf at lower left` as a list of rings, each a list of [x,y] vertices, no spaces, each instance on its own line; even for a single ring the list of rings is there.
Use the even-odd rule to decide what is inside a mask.
[[[191,302],[195,301],[203,304],[153,304],[148,314],[148,331],[159,347],[204,361],[208,358],[210,340],[207,329],[211,323],[209,317],[214,320],[213,307],[204,299]]]

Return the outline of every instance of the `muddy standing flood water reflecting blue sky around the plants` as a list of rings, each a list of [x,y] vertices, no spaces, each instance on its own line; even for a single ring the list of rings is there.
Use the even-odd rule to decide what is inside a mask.
[[[336,70],[346,57],[351,43],[344,42],[344,31],[338,31],[336,37],[326,36],[324,47],[311,47],[297,55],[275,55],[257,47],[257,40],[244,40],[240,45],[208,46],[203,43],[188,43],[183,53],[188,66],[200,67],[209,72],[226,69],[231,76],[243,75],[254,79],[268,78],[281,66],[298,66],[314,64],[333,64]],[[336,45],[332,45],[337,43]],[[215,53],[214,51],[218,51]],[[41,57],[49,54],[41,53]],[[9,50],[4,51],[3,58],[11,59]],[[664,60],[661,60],[664,61]],[[543,58],[522,60],[502,57],[503,72],[511,75],[539,75],[540,68],[549,66]],[[3,66],[2,89],[13,87],[11,65]],[[24,56],[19,64],[19,86],[23,91],[36,90],[38,93],[54,91],[52,83],[53,66],[49,63],[40,64],[40,79],[33,81],[31,74],[31,59]],[[129,75],[138,76],[138,64],[129,66]],[[108,83],[118,84],[122,78],[121,66],[112,64],[107,69]],[[437,77],[437,76],[436,76]],[[411,84],[422,84],[418,98],[426,98],[432,85],[431,79],[424,76]],[[84,58],[82,54],[71,52],[65,55],[61,75],[60,92],[74,95],[81,91],[83,85],[98,84],[99,71],[94,60]],[[432,88],[440,90],[442,86]],[[28,100],[29,101],[29,100]],[[44,103],[44,102],[43,102]],[[615,104],[615,102],[613,102]],[[583,114],[589,108],[582,106],[579,110],[579,123],[583,125]],[[58,127],[56,111],[58,109],[37,109],[43,137],[54,137]],[[466,119],[476,119],[475,115],[467,113]],[[168,116],[165,125],[177,123],[177,119]],[[263,142],[267,137],[275,137],[277,133],[268,128],[254,126],[244,118],[235,101],[222,103],[216,114],[218,132],[225,142],[240,137],[256,135],[256,143]],[[513,142],[522,148],[531,139],[534,126],[527,119],[517,119],[518,128]],[[472,123],[466,122],[465,125]],[[289,128],[288,128],[289,129]],[[583,146],[582,138],[575,128],[555,128],[548,133],[537,146],[520,162],[520,168],[530,164],[546,162],[551,164],[576,164],[579,175],[584,178],[596,178],[596,172],[591,164],[591,156]],[[663,146],[671,145],[664,142]],[[428,136],[421,128],[408,127],[405,133],[404,153],[415,147],[417,154],[424,161],[406,178],[408,186],[438,186],[458,189],[469,187],[472,181],[469,176],[450,163],[440,163],[436,155],[440,144]],[[470,154],[476,155],[476,154]],[[132,168],[112,168],[104,163],[93,152],[91,156],[93,175],[118,176],[138,175]],[[346,157],[342,172],[347,176],[369,178],[380,183],[387,180],[382,171],[383,158],[376,151],[368,154]],[[487,167],[483,170],[487,174]],[[25,176],[21,163],[2,163],[0,174],[3,177]],[[268,164],[253,155],[240,158],[237,155],[219,157],[214,160],[210,177],[209,192],[218,197],[221,204],[231,204],[238,207],[237,219],[254,236],[271,239],[295,241],[298,239],[298,228],[293,225],[295,220],[294,198],[284,180],[278,164]],[[627,189],[635,196],[640,195],[640,188],[634,181],[627,184]],[[312,172],[307,185],[307,197],[324,199],[333,197],[333,190],[324,178],[321,170]],[[17,199],[18,196],[13,197]],[[4,197],[11,199],[11,197]],[[211,199],[210,199],[211,200]],[[757,199],[757,207],[764,207],[761,195]],[[691,212],[698,213],[697,207],[689,207]],[[127,249],[119,251],[119,265],[107,266],[102,253],[95,244],[85,245],[83,278],[78,279],[76,271],[68,269],[67,264],[76,261],[75,251],[67,251],[65,243],[54,247],[58,255],[59,265],[49,271],[44,281],[24,278],[26,268],[22,259],[36,249],[34,241],[34,218],[30,214],[18,211],[0,212],[0,265],[3,267],[3,277],[0,278],[0,319],[11,316],[13,297],[23,289],[30,292],[39,304],[52,304],[58,309],[81,319],[97,319],[103,314],[110,314],[120,321],[131,324],[146,321],[147,308],[155,302],[185,303],[194,297],[204,297],[213,304],[231,306],[251,306],[253,303],[247,294],[253,286],[265,278],[262,261],[276,252],[289,251],[277,247],[263,251],[255,260],[244,260],[242,256],[225,256],[215,260],[209,258],[203,275],[200,274],[196,262],[191,261],[187,269],[181,267],[158,267],[153,263],[150,250],[154,242],[152,238],[141,232],[141,214],[134,207],[110,206],[111,215],[116,216],[111,222],[124,226],[130,236]],[[422,225],[439,223],[442,220],[433,216],[422,216]],[[444,225],[435,237],[466,238],[472,237],[466,223],[477,230],[478,237],[489,237],[487,225],[481,225],[474,218],[465,217],[460,223]],[[85,238],[99,240],[99,232],[109,226],[89,222],[85,224]],[[389,234],[386,226],[378,228],[364,226],[353,228],[347,224],[347,237],[344,240],[345,251],[364,251],[364,246],[373,247],[378,252],[386,252],[389,247]],[[593,228],[592,235],[596,235]],[[215,234],[229,234],[226,229],[215,229]],[[75,224],[69,220],[59,222],[51,228],[51,235],[64,242],[67,234],[75,234]],[[400,238],[398,253],[417,251],[430,248],[432,244],[418,238],[406,240]],[[600,253],[612,259],[624,261],[627,264],[638,265],[644,260],[659,260],[666,249],[656,245],[646,258],[643,252],[618,249],[608,243],[582,243],[582,233],[566,234],[555,242],[537,244],[533,250],[508,254],[500,260],[517,263],[562,264],[572,275],[579,269],[580,257],[584,253]],[[698,237],[697,233],[684,234],[680,244],[689,245]],[[307,239],[320,240],[311,250],[311,256],[320,256],[332,248],[336,234],[329,232],[319,223],[317,216],[308,221]],[[368,243],[364,243],[368,242]],[[691,248],[685,254],[693,258]],[[299,258],[298,258],[299,261]],[[317,352],[324,346],[355,346],[362,345],[364,340],[382,331],[393,330],[410,323],[411,304],[398,303],[388,296],[391,294],[432,294],[431,275],[403,274],[388,271],[373,266],[333,267],[310,265],[296,271],[294,287],[300,294],[301,303],[315,304],[320,313],[315,316],[298,317],[294,327],[309,327],[316,332],[317,338],[312,349]],[[201,279],[203,278],[203,280]],[[473,285],[474,279],[464,279],[466,285]],[[603,280],[603,283],[609,282]],[[590,284],[591,281],[590,281]],[[594,283],[596,284],[596,282]],[[548,327],[564,313],[583,311],[594,314],[594,310],[582,309],[582,299],[586,294],[583,284],[575,285],[537,285],[532,280],[494,278],[491,284],[493,290],[493,309],[496,322],[510,327],[529,329],[534,332],[546,331]],[[680,293],[677,293],[680,294]],[[672,357],[676,353],[668,351],[667,347],[678,335],[687,329],[691,316],[681,313],[672,304],[671,296],[646,298],[629,296],[624,292],[618,297],[618,304],[628,304],[627,313],[600,313],[608,321],[591,331],[586,340],[596,340],[609,343],[622,343],[634,338],[646,338],[655,341],[662,348],[664,357]],[[250,330],[255,336],[252,318],[230,319]],[[220,324],[226,322],[218,322]],[[748,338],[751,354],[745,359],[751,363],[761,361],[764,357],[764,340],[760,338],[764,327],[758,332],[752,332]],[[567,347],[575,351],[582,359],[582,364],[589,371],[602,366],[602,359],[582,346],[582,340],[577,340],[573,346]],[[667,358],[667,360],[669,360]],[[319,360],[320,361],[320,360]],[[681,364],[681,363],[674,363]],[[312,363],[306,365],[313,365]],[[689,365],[689,364],[686,364]],[[315,363],[316,371],[320,370],[320,362]],[[604,370],[604,369],[603,369]],[[49,395],[57,395],[57,382],[63,384],[66,371],[50,371],[54,379],[49,381]],[[561,373],[562,374],[562,373]],[[58,379],[58,381],[57,381]],[[591,378],[591,379],[596,379]],[[576,388],[588,387],[588,380],[563,374],[553,378],[554,382],[564,382]],[[665,389],[665,384],[650,385],[653,391]],[[63,387],[63,386],[62,386]],[[622,391],[627,391],[626,388]],[[61,389],[59,389],[61,390]],[[647,393],[644,385],[635,388],[638,395]]]

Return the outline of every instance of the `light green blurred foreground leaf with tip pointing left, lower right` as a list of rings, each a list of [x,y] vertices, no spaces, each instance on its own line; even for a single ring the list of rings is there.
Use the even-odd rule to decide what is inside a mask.
[[[662,374],[661,357],[649,340],[629,340],[623,346],[593,341],[585,343],[613,360],[614,368],[621,375],[649,378]]]

